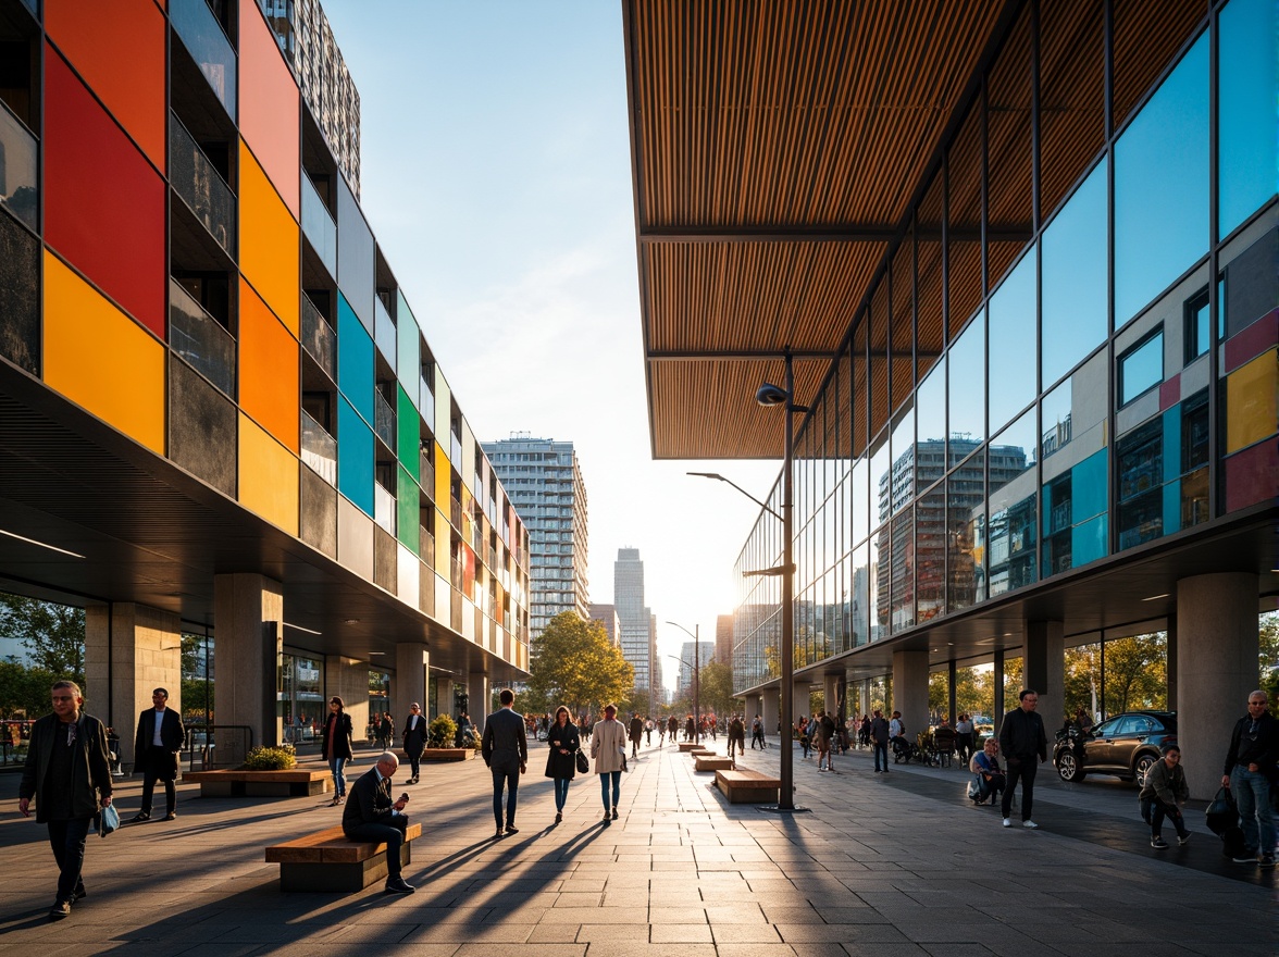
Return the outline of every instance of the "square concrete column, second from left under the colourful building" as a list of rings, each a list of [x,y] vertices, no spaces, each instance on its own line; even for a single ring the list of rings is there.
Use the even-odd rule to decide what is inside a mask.
[[[280,583],[255,573],[214,576],[214,627],[217,724],[244,725],[252,743],[278,745],[276,676],[284,632]],[[219,733],[217,765],[240,764],[243,745],[238,732]]]

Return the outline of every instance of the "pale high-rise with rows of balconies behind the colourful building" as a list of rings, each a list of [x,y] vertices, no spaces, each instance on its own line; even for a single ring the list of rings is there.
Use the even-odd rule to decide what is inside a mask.
[[[573,443],[514,432],[483,443],[483,450],[528,530],[530,636],[564,612],[585,621],[591,614],[586,484]]]

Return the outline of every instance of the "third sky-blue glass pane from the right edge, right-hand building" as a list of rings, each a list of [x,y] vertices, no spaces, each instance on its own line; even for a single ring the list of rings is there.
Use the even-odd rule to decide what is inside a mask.
[[[1044,230],[1040,361],[1045,388],[1106,338],[1106,161]]]

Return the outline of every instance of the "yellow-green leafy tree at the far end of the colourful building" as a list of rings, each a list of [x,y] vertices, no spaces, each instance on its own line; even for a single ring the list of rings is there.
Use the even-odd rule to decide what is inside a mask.
[[[599,713],[610,701],[625,700],[633,688],[634,668],[599,622],[561,612],[533,640],[524,696],[531,710],[565,705],[574,714]]]

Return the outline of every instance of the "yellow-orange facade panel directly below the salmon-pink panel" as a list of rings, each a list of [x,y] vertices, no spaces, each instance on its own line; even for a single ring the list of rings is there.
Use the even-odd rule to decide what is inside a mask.
[[[271,311],[298,334],[298,224],[240,141],[240,270]]]

